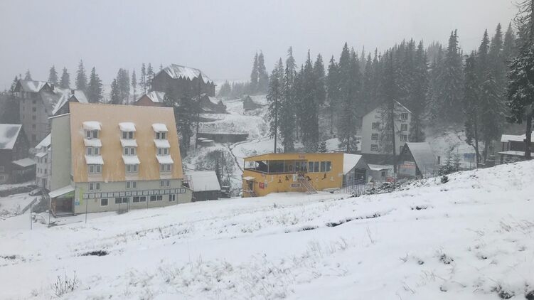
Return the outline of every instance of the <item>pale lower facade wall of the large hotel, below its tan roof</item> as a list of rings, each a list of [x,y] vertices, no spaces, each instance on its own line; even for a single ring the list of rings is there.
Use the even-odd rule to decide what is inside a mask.
[[[136,181],[137,188],[127,189],[126,182],[117,181],[111,183],[100,183],[100,191],[89,191],[89,183],[75,183],[75,198],[73,203],[74,213],[100,213],[105,211],[119,211],[131,210],[141,208],[159,208],[169,205],[176,205],[178,203],[191,202],[192,192],[189,188],[182,186],[180,179],[171,179],[169,186],[161,187],[161,181]],[[164,193],[166,190],[179,189],[179,193],[172,191],[176,195],[175,201],[169,201],[169,193]],[[161,191],[161,192],[160,192]],[[134,195],[139,193],[147,193],[144,195],[146,201],[134,203]],[[162,200],[151,201],[149,194],[163,193]],[[107,199],[107,206],[101,205],[102,198]],[[128,198],[128,203],[115,203],[115,198]]]

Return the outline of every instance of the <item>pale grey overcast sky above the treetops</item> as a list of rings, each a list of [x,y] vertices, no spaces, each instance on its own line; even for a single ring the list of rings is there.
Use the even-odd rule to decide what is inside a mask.
[[[71,82],[80,58],[105,84],[119,68],[176,63],[214,80],[247,79],[262,50],[267,70],[292,45],[297,63],[308,49],[338,58],[346,41],[358,53],[383,50],[403,38],[475,48],[485,28],[516,14],[513,0],[195,0],[0,1],[0,89],[31,71],[47,80],[55,65]],[[506,24],[506,25],[505,25]]]

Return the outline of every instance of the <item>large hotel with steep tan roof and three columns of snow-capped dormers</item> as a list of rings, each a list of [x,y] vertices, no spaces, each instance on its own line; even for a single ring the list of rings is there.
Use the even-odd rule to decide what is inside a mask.
[[[191,202],[173,109],[72,102],[52,117],[55,215]]]

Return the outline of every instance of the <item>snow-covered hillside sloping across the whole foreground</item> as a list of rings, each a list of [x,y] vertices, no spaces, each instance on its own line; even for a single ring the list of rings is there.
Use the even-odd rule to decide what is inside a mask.
[[[65,299],[524,299],[533,172],[530,161],[389,194],[273,194],[33,230],[21,215],[0,221],[1,295],[49,299],[75,276]]]

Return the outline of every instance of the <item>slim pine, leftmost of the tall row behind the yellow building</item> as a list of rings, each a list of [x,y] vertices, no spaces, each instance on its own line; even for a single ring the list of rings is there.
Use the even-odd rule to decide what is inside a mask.
[[[274,138],[274,153],[277,153],[277,142],[279,132],[279,108],[282,100],[282,80],[284,78],[284,65],[282,58],[274,66],[269,79],[269,92],[267,93],[267,103],[269,108],[267,118],[269,119],[269,134]]]

